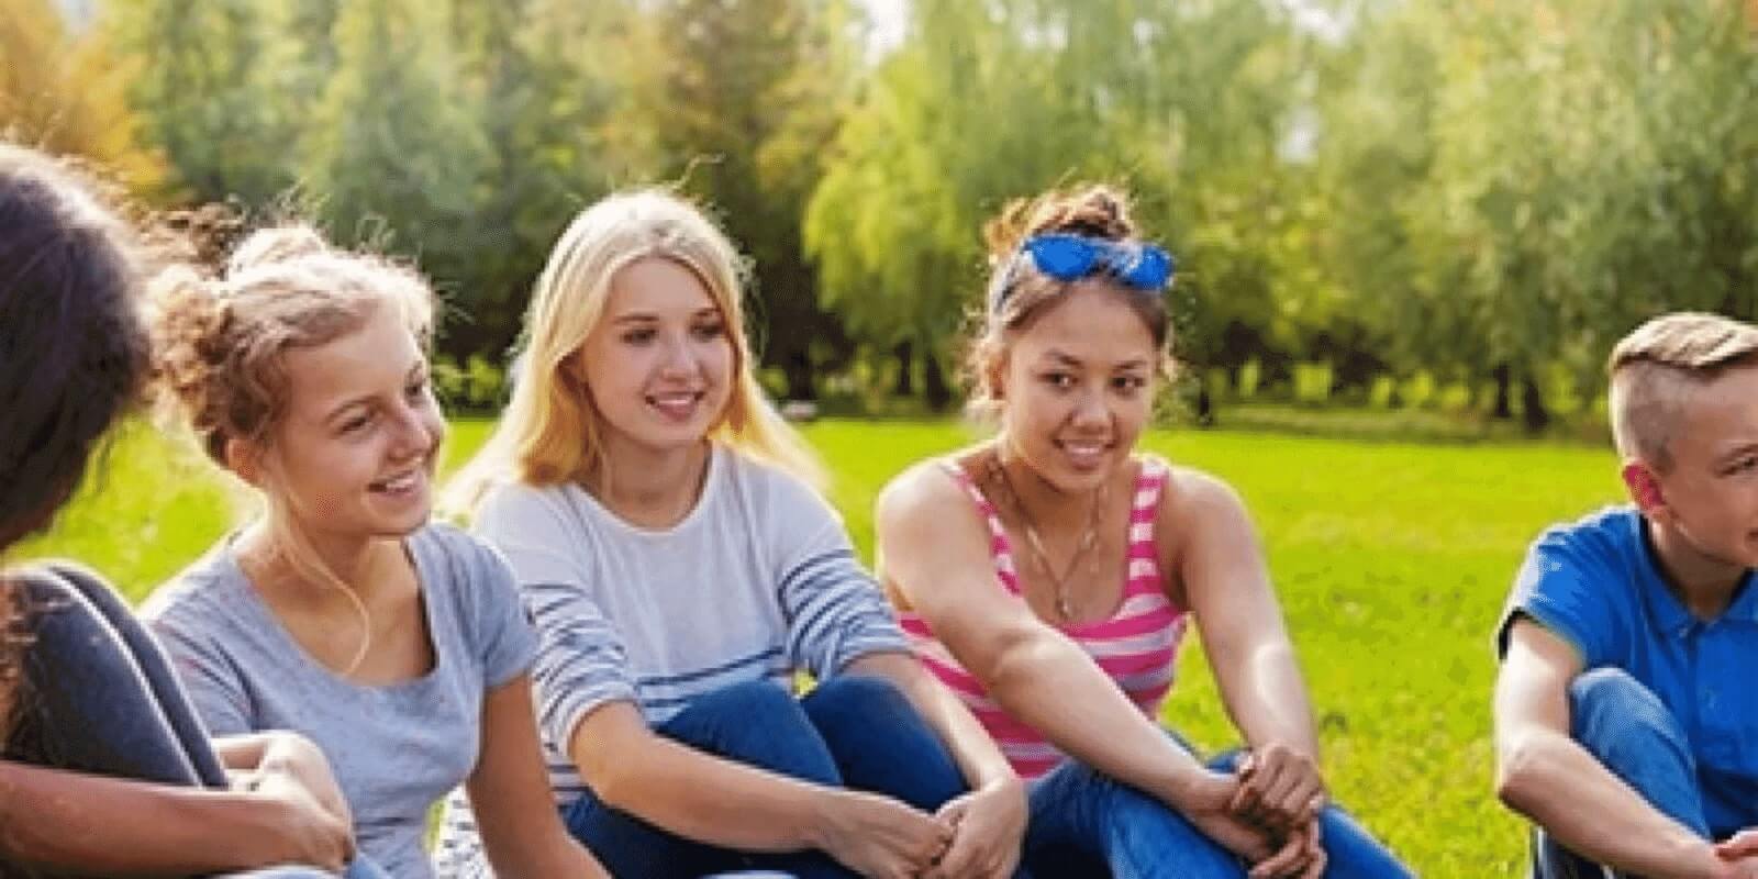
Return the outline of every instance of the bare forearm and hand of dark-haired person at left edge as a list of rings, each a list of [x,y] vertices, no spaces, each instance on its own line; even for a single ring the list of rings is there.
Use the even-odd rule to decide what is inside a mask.
[[[253,793],[0,761],[0,851],[95,875],[192,875],[276,863],[339,870],[352,830],[271,777]]]

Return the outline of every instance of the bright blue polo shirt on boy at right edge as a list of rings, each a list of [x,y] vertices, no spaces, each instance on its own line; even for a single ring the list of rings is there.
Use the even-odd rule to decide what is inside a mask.
[[[1721,839],[1758,825],[1758,589],[1702,621],[1667,589],[1642,515],[1616,506],[1531,545],[1496,629],[1526,614],[1575,645],[1586,670],[1621,668],[1672,710],[1696,756],[1704,817]]]

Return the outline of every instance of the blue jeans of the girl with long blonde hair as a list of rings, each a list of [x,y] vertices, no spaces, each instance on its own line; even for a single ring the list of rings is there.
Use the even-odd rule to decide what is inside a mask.
[[[833,788],[874,791],[932,812],[965,793],[951,754],[909,700],[874,677],[835,677],[802,700],[752,680],[691,700],[656,730],[698,751]],[[819,851],[763,854],[689,840],[585,793],[563,810],[568,830],[612,875],[698,877],[777,870],[853,877]]]

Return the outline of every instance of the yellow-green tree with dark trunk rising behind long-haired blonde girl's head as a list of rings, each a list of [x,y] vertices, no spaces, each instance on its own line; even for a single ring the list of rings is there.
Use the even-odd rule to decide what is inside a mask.
[[[752,257],[763,364],[784,373],[786,396],[816,397],[817,369],[851,350],[819,308],[800,216],[849,88],[849,11],[807,0],[650,7],[624,137],[649,144],[663,176],[719,209]]]

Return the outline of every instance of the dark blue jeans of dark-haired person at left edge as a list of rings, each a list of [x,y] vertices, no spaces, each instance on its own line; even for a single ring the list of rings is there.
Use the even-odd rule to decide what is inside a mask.
[[[30,647],[7,758],[42,766],[192,788],[227,788],[225,766],[158,642],[91,571],[33,568],[23,589]],[[229,874],[255,879],[329,875],[309,867]],[[380,879],[371,861],[350,879]]]

